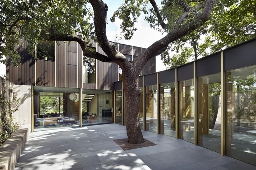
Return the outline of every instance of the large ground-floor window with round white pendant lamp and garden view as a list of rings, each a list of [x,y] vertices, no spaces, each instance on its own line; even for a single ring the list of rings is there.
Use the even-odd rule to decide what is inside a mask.
[[[78,89],[34,86],[34,130],[79,125]]]

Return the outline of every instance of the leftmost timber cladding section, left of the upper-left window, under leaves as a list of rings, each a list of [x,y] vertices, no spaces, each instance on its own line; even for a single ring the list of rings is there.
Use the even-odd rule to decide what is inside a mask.
[[[9,76],[9,80],[13,84],[35,85],[35,60],[27,50],[28,42],[22,42],[23,46],[15,46],[21,56],[21,63],[19,63],[18,67],[14,67],[11,59],[6,57],[6,76]]]

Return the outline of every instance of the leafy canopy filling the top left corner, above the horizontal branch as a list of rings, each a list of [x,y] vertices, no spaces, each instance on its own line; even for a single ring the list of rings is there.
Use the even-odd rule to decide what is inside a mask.
[[[87,0],[0,0],[0,62],[7,63],[3,56],[10,56],[17,66],[20,56],[14,46],[20,39],[29,42],[32,53],[35,44],[42,40],[41,31],[49,33],[81,32],[84,39],[93,35],[90,23],[91,9]]]

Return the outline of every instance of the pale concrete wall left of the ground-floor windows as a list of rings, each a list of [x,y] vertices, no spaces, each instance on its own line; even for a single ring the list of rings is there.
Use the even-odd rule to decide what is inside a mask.
[[[19,110],[13,113],[14,121],[23,127],[28,127],[29,132],[31,132],[31,86],[13,85],[13,92],[20,102]]]

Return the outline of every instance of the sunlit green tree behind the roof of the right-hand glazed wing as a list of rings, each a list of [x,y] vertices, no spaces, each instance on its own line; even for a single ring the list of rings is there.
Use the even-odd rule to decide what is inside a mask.
[[[165,52],[162,53],[161,59],[173,68],[188,62],[188,59],[196,60],[198,57],[255,38],[255,11],[255,0],[218,1],[209,21],[170,44],[172,50],[178,54],[169,56],[169,53]],[[171,62],[177,59],[179,62]]]

